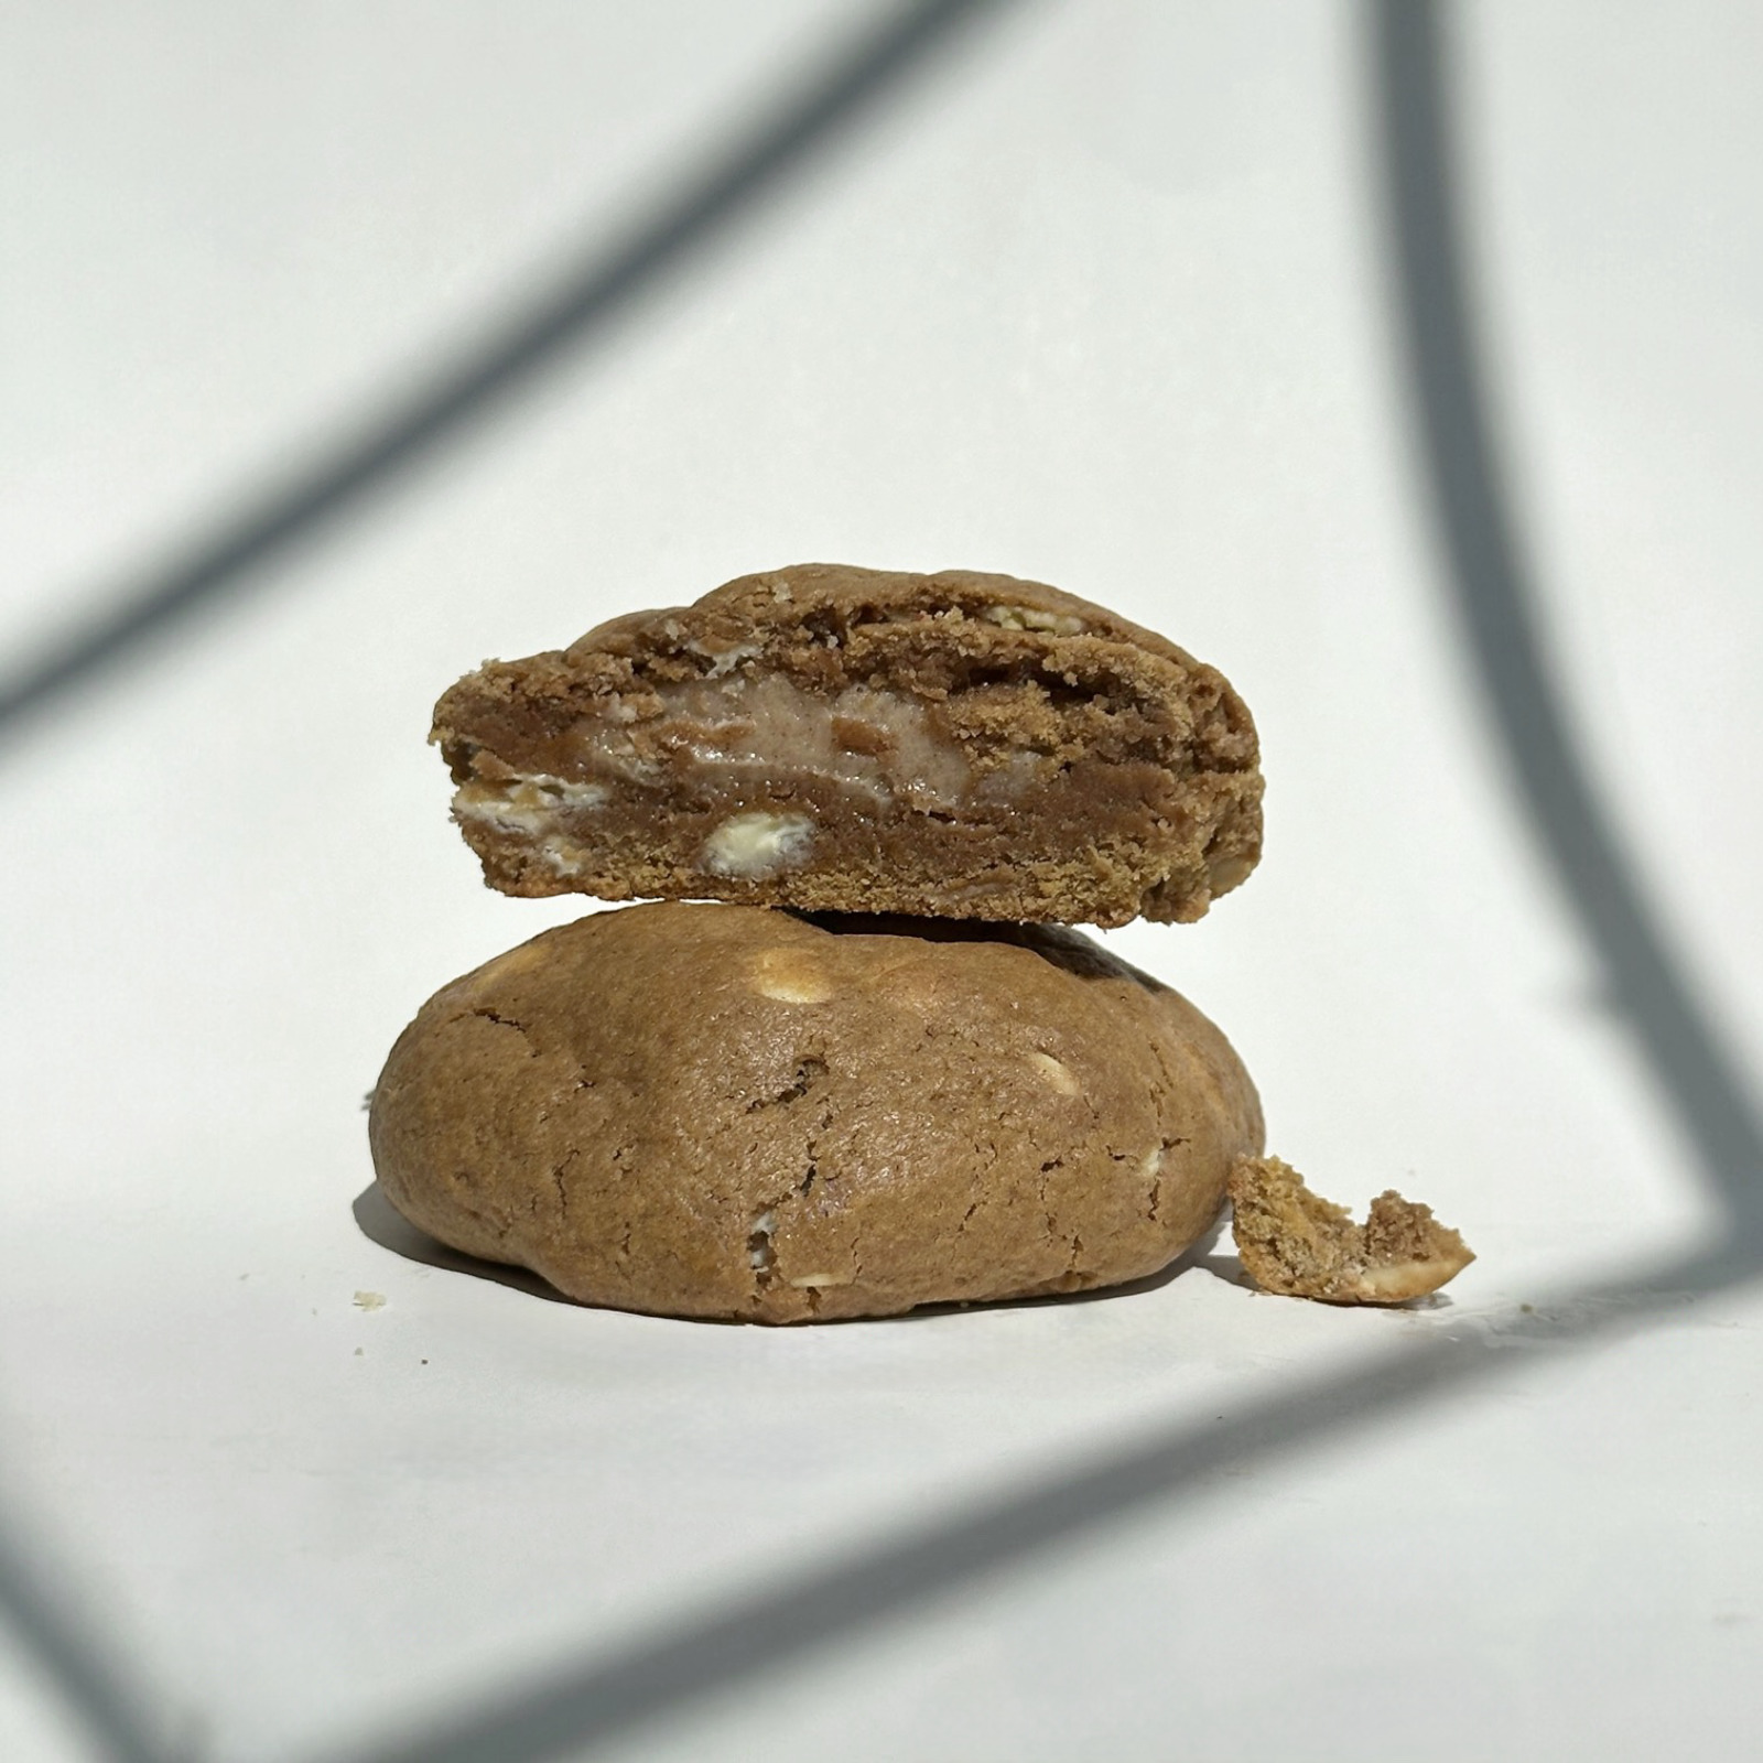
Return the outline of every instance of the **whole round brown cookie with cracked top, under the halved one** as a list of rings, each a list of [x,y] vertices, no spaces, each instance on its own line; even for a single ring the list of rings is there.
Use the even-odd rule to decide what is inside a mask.
[[[1224,1035],[1072,931],[675,903],[439,991],[368,1130],[455,1248],[755,1322],[1141,1278],[1262,1148]]]

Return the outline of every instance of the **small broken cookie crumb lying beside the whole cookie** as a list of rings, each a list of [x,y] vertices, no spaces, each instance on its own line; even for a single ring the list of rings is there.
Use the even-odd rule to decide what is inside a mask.
[[[1333,1305],[1400,1305],[1439,1291],[1476,1257],[1428,1206],[1395,1190],[1372,1201],[1366,1222],[1312,1194],[1276,1157],[1231,1167],[1231,1231],[1243,1271],[1269,1292]]]

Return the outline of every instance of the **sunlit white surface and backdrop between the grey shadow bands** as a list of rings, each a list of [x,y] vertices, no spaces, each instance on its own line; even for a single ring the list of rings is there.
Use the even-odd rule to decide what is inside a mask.
[[[1507,430],[1574,702],[1756,1061],[1756,25],[1544,12],[1467,35]],[[857,16],[11,9],[0,654],[635,212]],[[78,1562],[167,1730],[217,1756],[397,1731],[1183,1416],[1499,1336],[1696,1234],[1451,652],[1361,99],[1345,9],[1030,7],[538,398],[0,753],[0,1497]],[[1114,941],[1225,1024],[1319,1186],[1396,1183],[1465,1229],[1451,1305],[1340,1313],[1199,1266],[767,1333],[539,1303],[360,1234],[360,1098],[398,1026],[577,911],[478,885],[421,740],[437,689],[809,557],[1037,575],[1232,675],[1264,867]],[[1511,1365],[1474,1396],[617,1754],[1738,1754],[1759,1320],[1728,1296],[1620,1345],[1490,1349]],[[9,1645],[0,1751],[86,1754]]]

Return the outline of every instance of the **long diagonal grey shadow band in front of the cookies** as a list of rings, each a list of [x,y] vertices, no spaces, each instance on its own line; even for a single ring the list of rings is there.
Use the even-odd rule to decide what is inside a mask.
[[[437,1722],[347,1763],[543,1763],[587,1756],[679,1715],[767,1671],[807,1661],[878,1624],[924,1611],[1007,1569],[1040,1560],[1095,1532],[1185,1495],[1192,1504],[1222,1474],[1282,1451],[1317,1446],[1497,1379],[1534,1350],[1638,1329],[1698,1296],[1754,1278],[1754,1245],[1698,1253],[1641,1280],[1567,1294],[1558,1308],[1506,1319],[1500,1335],[1451,1338],[1382,1354],[1303,1393],[1273,1396],[1241,1416],[1183,1421],[1127,1449],[994,1495],[971,1507],[839,1553],[823,1566],[735,1597],[555,1677],[499,1692],[455,1722]]]

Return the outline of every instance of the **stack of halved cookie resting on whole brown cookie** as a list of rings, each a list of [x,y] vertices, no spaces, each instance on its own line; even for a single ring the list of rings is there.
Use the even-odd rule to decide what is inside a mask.
[[[393,1047],[379,1179],[457,1248],[628,1310],[887,1315],[1153,1273],[1262,1149],[1224,1035],[1065,929],[1199,919],[1261,852],[1248,712],[1151,631],[802,566],[490,663],[434,739],[494,887],[658,901]]]

